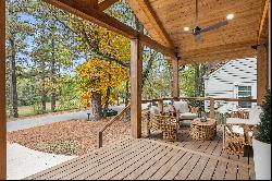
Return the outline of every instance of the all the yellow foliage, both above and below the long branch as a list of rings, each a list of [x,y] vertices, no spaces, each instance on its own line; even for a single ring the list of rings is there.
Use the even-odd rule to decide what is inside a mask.
[[[131,44],[126,37],[77,16],[71,16],[70,26],[77,34],[78,50],[81,52],[88,53],[88,51],[96,50],[124,63],[129,62]],[[97,58],[91,58],[79,65],[77,74],[81,80],[78,87],[81,105],[84,107],[90,106],[91,93],[94,92],[101,93],[102,104],[104,104],[108,87],[111,87],[111,89],[116,88],[128,79],[127,68],[123,68],[113,61]],[[115,98],[116,95],[111,92],[110,100]]]

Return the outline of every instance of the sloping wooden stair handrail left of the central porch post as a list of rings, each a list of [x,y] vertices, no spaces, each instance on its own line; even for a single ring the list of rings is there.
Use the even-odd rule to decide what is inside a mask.
[[[98,147],[102,147],[103,145],[103,132],[111,126],[115,121],[120,121],[121,119],[126,116],[126,112],[131,109],[131,104],[128,104],[119,114],[116,114],[114,118],[110,120],[109,123],[107,123],[98,133]]]

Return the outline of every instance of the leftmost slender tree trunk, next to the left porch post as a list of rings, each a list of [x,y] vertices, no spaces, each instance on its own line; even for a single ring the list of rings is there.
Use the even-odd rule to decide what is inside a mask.
[[[10,44],[12,47],[12,55],[11,55],[11,100],[12,100],[12,108],[13,108],[13,117],[18,118],[17,112],[17,77],[16,77],[16,47],[14,39],[10,38]]]

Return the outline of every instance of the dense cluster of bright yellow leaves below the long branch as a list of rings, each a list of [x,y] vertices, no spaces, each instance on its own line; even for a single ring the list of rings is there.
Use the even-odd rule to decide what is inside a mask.
[[[81,106],[89,107],[91,93],[100,92],[102,95],[102,104],[106,102],[108,87],[115,88],[127,80],[127,70],[115,62],[108,62],[100,59],[91,59],[90,61],[77,67],[79,81]],[[111,95],[114,100],[115,95]]]

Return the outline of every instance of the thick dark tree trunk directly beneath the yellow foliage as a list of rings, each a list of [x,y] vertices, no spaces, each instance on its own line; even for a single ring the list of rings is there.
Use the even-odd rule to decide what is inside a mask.
[[[101,93],[95,92],[91,95],[91,112],[95,117],[95,120],[100,120],[102,114],[101,106]]]

